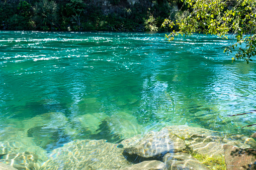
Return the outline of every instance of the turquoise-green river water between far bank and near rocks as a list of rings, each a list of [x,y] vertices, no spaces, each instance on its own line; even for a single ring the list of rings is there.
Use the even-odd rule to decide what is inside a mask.
[[[256,113],[227,115],[256,109],[255,62],[231,63],[231,40],[164,35],[0,32],[1,140],[17,133],[50,151],[168,125],[254,132],[240,127]]]

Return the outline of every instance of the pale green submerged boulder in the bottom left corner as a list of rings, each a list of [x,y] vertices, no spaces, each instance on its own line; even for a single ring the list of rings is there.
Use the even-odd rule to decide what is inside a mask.
[[[7,127],[0,132],[0,163],[17,169],[39,169],[46,151],[37,146],[25,131]],[[0,165],[0,169],[2,169]]]

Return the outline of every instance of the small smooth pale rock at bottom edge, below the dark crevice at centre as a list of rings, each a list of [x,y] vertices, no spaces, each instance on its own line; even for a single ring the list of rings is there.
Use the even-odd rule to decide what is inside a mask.
[[[165,164],[158,160],[143,161],[120,170],[167,170]]]

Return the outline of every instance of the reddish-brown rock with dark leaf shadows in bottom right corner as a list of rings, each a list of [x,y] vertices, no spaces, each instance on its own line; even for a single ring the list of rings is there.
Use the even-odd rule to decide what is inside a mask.
[[[224,145],[227,170],[256,169],[256,149]]]

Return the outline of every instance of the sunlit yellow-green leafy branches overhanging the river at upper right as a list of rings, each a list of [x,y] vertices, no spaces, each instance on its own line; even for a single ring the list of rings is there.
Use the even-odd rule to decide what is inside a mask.
[[[233,35],[236,42],[226,47],[224,52],[237,53],[232,60],[244,59],[247,64],[256,55],[256,1],[224,1],[224,0],[182,0],[183,8],[174,20],[164,20],[162,26],[173,28],[166,35],[174,40],[177,35],[189,36],[193,33],[217,35],[227,39]],[[187,9],[187,10],[184,10]]]

